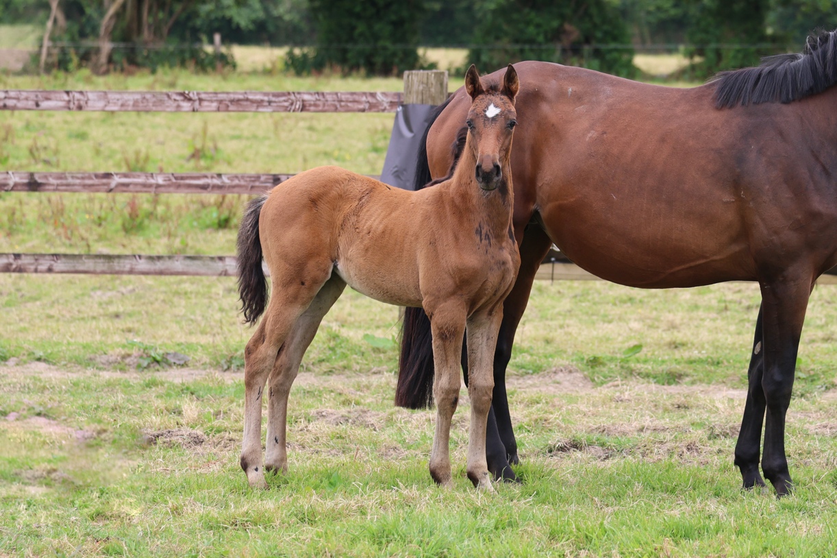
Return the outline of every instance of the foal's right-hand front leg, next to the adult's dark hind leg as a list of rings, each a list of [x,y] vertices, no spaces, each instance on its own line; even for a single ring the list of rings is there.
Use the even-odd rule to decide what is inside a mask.
[[[468,478],[476,488],[493,490],[485,455],[485,433],[494,390],[492,357],[503,318],[501,304],[468,319],[468,395],[471,402]]]

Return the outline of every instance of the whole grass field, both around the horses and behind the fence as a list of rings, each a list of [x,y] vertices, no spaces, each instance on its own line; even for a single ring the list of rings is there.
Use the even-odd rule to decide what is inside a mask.
[[[400,90],[280,73],[0,75],[0,88]],[[0,111],[5,170],[383,166],[391,115]],[[234,253],[245,199],[0,194],[0,251]],[[238,464],[234,279],[0,275],[0,556],[822,556],[837,549],[837,287],[814,291],[788,415],[793,496],[732,449],[758,307],[731,283],[539,282],[509,385],[521,485],[427,473],[433,412],[392,405],[398,310],[347,292],[291,392],[290,473]],[[172,365],[172,361],[183,365]]]

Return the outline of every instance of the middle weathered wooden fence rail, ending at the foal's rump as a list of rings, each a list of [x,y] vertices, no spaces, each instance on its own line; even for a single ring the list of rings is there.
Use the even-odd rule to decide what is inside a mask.
[[[6,192],[88,194],[261,194],[293,174],[0,173]],[[379,178],[372,176],[372,178]]]

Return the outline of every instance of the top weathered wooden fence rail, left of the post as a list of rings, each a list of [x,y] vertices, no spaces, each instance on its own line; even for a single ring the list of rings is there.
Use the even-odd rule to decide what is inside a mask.
[[[394,112],[400,92],[0,90],[5,111]]]

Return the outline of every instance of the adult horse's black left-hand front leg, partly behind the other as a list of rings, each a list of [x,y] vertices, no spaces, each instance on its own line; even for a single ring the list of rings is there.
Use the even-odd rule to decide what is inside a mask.
[[[758,457],[761,453],[762,426],[764,423],[764,335],[762,327],[763,305],[758,308],[756,333],[752,340],[750,368],[747,369],[747,403],[744,404],[744,417],[741,431],[735,447],[735,464],[741,470],[744,488],[764,486],[762,475],[758,473]]]

